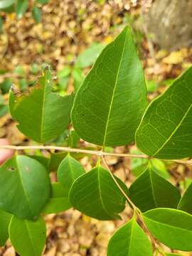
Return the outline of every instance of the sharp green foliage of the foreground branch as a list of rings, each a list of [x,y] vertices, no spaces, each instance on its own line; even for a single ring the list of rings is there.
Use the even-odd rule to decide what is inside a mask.
[[[82,55],[77,63],[77,68],[84,67]],[[70,73],[70,69],[62,70],[60,78]],[[192,250],[191,185],[181,198],[178,188],[166,180],[166,165],[159,160],[191,157],[191,75],[189,68],[147,107],[142,66],[126,27],[102,50],[74,102],[73,95],[53,92],[49,68],[32,90],[11,90],[9,109],[23,134],[36,142],[52,143],[54,148],[55,137],[68,133],[65,151],[78,147],[81,138],[97,146],[98,151],[93,148],[89,153],[97,154],[98,161],[88,172],[74,153],[51,151],[50,159],[16,155],[6,161],[0,167],[1,245],[9,237],[21,256],[41,255],[46,241],[44,214],[73,207],[92,218],[114,220],[121,218],[127,201],[133,217],[114,233],[107,256],[153,255],[157,250],[171,255],[154,245],[154,239],[149,242],[144,227],[171,249]],[[75,131],[69,126],[70,116]],[[136,163],[138,177],[128,189],[107,169],[104,152],[105,146],[131,142],[146,155]],[[85,149],[73,152],[78,150],[87,153]],[[157,159],[149,161],[148,156]],[[51,186],[50,171],[57,171],[58,176]]]

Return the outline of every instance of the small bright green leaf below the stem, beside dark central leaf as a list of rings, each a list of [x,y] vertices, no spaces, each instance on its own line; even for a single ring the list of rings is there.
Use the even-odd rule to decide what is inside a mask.
[[[85,169],[82,165],[69,154],[63,159],[58,167],[58,181],[66,190],[70,191],[73,182],[82,174],[85,174]]]

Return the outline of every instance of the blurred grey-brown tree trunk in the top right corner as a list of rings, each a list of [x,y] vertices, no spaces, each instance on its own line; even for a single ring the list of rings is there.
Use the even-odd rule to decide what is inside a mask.
[[[148,32],[166,50],[192,46],[192,0],[156,0],[146,16]]]

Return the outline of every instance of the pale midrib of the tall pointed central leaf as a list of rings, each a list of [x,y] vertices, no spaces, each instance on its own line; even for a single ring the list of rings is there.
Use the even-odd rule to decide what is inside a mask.
[[[103,146],[105,146],[105,141],[106,141],[106,137],[107,137],[107,129],[108,129],[108,125],[109,125],[109,122],[110,122],[110,114],[111,114],[111,111],[112,111],[112,104],[113,104],[113,100],[114,100],[114,92],[117,88],[117,82],[118,82],[118,78],[119,78],[120,67],[122,65],[122,58],[123,58],[123,55],[124,55],[124,47],[125,47],[126,38],[127,38],[127,31],[126,31],[126,35],[125,35],[125,38],[124,38],[124,46],[123,46],[123,49],[122,49],[121,59],[119,61],[119,68],[117,70],[117,77],[116,77],[116,80],[114,82],[114,89],[113,89],[113,92],[112,92],[112,99],[111,99],[111,102],[110,102],[110,109],[109,109],[109,113],[107,115],[107,122],[106,122],[106,126],[105,126],[105,134],[104,134],[104,138],[103,138]]]

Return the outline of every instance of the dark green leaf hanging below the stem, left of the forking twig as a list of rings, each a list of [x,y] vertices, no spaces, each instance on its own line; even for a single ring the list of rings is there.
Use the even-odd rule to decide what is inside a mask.
[[[128,193],[127,187],[115,177]],[[86,215],[98,220],[119,219],[125,207],[125,198],[114,183],[109,171],[97,166],[80,176],[70,189],[70,203]]]

